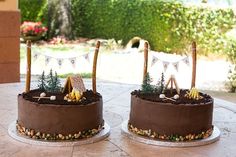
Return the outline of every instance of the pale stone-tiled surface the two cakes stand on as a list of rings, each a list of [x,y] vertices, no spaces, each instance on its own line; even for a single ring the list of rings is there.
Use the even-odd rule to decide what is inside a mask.
[[[110,136],[100,142],[73,147],[50,147],[21,143],[12,139],[8,126],[17,118],[17,94],[24,91],[25,82],[0,85],[0,156],[161,156],[161,157],[235,157],[236,104],[215,99],[213,124],[221,130],[219,141],[200,147],[168,148],[130,140],[121,133],[121,123],[130,110],[130,92],[135,84],[98,80],[98,92],[103,95],[104,119],[111,126]],[[34,81],[32,86],[35,86]],[[85,80],[88,89],[91,81]]]

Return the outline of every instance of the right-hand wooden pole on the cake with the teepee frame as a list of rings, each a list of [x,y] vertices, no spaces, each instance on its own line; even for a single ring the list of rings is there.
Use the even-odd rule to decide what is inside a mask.
[[[192,69],[192,83],[191,88],[195,87],[196,82],[196,68],[197,68],[197,46],[196,42],[194,41],[192,43],[192,63],[193,63],[193,69]]]

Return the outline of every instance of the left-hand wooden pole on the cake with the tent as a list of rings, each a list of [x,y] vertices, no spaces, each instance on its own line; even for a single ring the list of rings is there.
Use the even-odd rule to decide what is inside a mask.
[[[31,41],[27,41],[27,69],[26,69],[26,87],[25,92],[30,91],[31,82]]]

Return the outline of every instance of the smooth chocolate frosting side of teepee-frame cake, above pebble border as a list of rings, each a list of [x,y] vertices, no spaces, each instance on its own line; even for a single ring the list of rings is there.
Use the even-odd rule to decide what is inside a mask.
[[[152,102],[131,96],[129,123],[162,135],[188,135],[212,127],[213,99],[206,104]]]

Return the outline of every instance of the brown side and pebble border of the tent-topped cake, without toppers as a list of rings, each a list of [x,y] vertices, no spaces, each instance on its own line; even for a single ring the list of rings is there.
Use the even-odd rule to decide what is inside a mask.
[[[82,102],[81,104],[64,101],[66,104],[57,104],[55,101],[47,103],[32,99],[31,95],[38,95],[38,90],[32,90],[27,94],[18,95],[18,120],[19,133],[28,135],[31,138],[45,139],[43,134],[48,135],[47,140],[63,140],[59,135],[76,139],[89,137],[98,133],[103,126],[103,102],[102,96],[96,94],[94,102]],[[92,91],[87,91],[91,93]],[[47,94],[48,95],[48,94]],[[55,95],[55,94],[54,94]],[[57,101],[63,99],[57,95]],[[89,94],[87,94],[89,95]],[[93,100],[89,99],[88,100]],[[32,135],[30,134],[32,133]],[[36,136],[36,134],[39,136]]]

